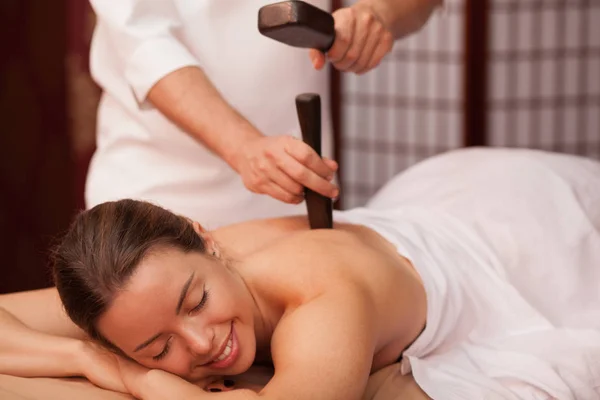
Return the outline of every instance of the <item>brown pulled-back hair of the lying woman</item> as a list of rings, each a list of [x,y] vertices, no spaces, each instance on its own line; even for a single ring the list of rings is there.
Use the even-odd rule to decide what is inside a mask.
[[[52,254],[54,283],[71,320],[112,346],[98,318],[151,251],[206,251],[191,221],[148,202],[106,202],[79,213]]]

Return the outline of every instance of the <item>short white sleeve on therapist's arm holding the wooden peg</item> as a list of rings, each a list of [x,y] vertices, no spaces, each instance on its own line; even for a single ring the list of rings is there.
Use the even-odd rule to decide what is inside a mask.
[[[126,81],[138,101],[161,78],[199,61],[178,39],[179,10],[171,0],[90,0],[97,23],[108,33]]]

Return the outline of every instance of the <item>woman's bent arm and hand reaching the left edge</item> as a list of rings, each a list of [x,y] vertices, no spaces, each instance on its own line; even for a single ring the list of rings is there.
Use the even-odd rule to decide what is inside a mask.
[[[65,314],[55,288],[0,295],[0,374],[84,376],[125,392],[118,356],[89,342]]]

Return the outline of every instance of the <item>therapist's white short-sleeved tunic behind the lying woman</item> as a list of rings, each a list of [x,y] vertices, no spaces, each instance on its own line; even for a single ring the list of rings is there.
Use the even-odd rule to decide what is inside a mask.
[[[328,0],[310,3],[329,11]],[[269,0],[91,0],[97,14],[91,73],[103,88],[86,206],[149,200],[209,229],[246,219],[305,213],[248,191],[223,160],[165,118],[150,88],[184,66],[201,67],[225,100],[265,135],[301,137],[298,94],[321,95],[323,155],[332,156],[329,81],[307,50],[258,32]],[[214,121],[218,134],[219,121]]]

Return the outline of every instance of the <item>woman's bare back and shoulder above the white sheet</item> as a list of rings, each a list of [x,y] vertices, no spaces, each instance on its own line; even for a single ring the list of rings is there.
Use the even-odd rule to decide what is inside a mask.
[[[375,315],[372,372],[396,362],[425,324],[418,274],[389,242],[362,226],[289,232],[248,256],[241,272],[279,310],[275,320],[325,293],[352,287],[351,295],[361,296]]]

